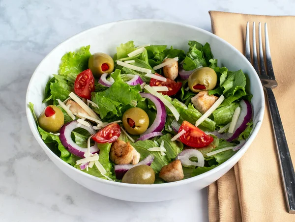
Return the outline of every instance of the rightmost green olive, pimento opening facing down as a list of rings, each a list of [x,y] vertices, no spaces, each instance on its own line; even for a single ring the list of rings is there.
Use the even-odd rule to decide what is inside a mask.
[[[188,87],[193,92],[211,90],[216,86],[217,75],[209,67],[196,69],[188,78]]]

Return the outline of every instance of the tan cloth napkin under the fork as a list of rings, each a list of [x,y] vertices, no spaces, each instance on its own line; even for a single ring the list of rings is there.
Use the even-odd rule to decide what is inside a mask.
[[[295,164],[295,17],[218,11],[209,14],[213,33],[242,53],[246,22],[251,24],[250,36],[253,22],[257,28],[258,22],[262,27],[267,23],[278,82],[273,92]],[[260,132],[250,148],[234,168],[208,187],[208,205],[210,222],[295,222],[295,215],[287,213],[267,103]]]

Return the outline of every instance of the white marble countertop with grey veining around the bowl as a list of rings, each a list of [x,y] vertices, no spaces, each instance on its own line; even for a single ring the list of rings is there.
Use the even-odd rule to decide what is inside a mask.
[[[290,0],[0,0],[0,221],[208,221],[207,190],[158,203],[95,194],[59,171],[33,138],[25,94],[38,63],[66,38],[118,20],[153,18],[210,30],[208,10],[292,15]]]

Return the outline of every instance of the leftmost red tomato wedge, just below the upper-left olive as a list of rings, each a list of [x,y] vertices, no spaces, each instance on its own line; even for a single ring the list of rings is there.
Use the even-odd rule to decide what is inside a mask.
[[[76,77],[74,90],[78,96],[90,100],[91,92],[93,92],[94,89],[94,77],[90,69],[84,70]]]

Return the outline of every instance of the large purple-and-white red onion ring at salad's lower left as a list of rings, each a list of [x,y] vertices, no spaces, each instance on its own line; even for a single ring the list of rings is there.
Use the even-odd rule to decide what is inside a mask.
[[[90,125],[89,127],[81,125],[77,122],[77,120],[73,120],[64,124],[60,128],[60,135],[59,139],[61,144],[68,149],[68,151],[78,157],[84,158],[84,154],[87,151],[87,148],[82,148],[81,146],[77,145],[73,139],[71,138],[71,133],[76,128],[83,128],[87,130],[90,134],[95,134],[95,130]],[[99,148],[97,147],[97,143],[95,142],[93,146],[90,147],[90,153],[98,153]]]

